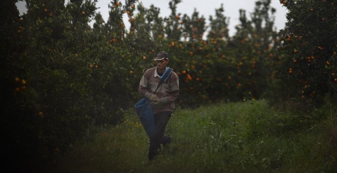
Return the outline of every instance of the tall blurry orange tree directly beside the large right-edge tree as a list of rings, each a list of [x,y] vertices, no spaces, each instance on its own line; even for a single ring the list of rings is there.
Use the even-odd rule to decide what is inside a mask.
[[[279,41],[273,28],[275,9],[270,7],[270,1],[257,1],[255,4],[250,20],[245,11],[240,10],[240,24],[229,43],[233,51],[231,63],[236,65],[231,78],[237,85],[238,98],[259,98],[272,81],[275,61],[278,60]]]

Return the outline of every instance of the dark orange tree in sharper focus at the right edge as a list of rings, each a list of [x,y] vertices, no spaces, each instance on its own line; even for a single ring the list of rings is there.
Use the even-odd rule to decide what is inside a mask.
[[[337,91],[337,1],[280,1],[287,9],[279,76],[305,104]]]

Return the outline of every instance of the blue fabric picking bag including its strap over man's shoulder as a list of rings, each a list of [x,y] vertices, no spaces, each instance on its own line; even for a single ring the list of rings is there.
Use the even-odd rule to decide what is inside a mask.
[[[173,69],[170,67],[167,67],[164,71],[163,75],[160,76],[160,82],[155,90],[154,93],[156,93],[159,85],[162,82],[165,82],[168,77],[171,75]],[[151,138],[154,129],[155,129],[155,122],[153,118],[153,110],[150,99],[147,98],[141,98],[135,105],[134,105],[137,115],[140,119],[141,124],[143,125],[146,133]]]

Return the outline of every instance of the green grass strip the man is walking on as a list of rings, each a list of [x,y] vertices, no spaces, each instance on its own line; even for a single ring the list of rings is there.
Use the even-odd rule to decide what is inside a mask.
[[[335,172],[336,108],[276,111],[266,101],[177,109],[172,143],[148,161],[149,139],[136,117],[57,154],[54,172]]]

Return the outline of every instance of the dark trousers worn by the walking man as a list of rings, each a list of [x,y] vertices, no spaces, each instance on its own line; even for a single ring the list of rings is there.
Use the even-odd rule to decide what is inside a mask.
[[[160,150],[160,143],[162,142],[162,137],[171,115],[171,111],[157,112],[153,115],[155,120],[155,130],[152,137],[150,137],[149,157],[156,155],[157,151]]]

